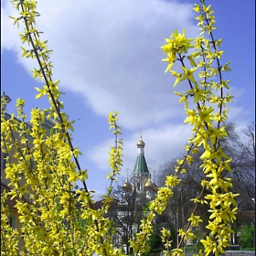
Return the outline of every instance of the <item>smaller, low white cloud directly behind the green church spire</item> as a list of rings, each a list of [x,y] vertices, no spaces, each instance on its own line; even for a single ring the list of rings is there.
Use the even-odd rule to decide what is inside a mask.
[[[145,129],[143,131],[143,140],[145,143],[144,154],[147,165],[151,168],[153,174],[160,165],[178,157],[184,152],[187,137],[191,137],[188,125],[163,124],[157,128]],[[123,140],[123,168],[122,176],[126,176],[126,168],[129,168],[129,174],[133,172],[133,167],[137,157],[137,142],[139,133],[131,133]],[[110,145],[112,140],[105,141],[91,148],[87,155],[91,161],[102,170],[108,166]]]

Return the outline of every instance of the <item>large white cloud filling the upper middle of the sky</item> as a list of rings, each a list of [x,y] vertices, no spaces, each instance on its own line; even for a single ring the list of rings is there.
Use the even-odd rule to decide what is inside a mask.
[[[166,121],[180,111],[160,47],[175,28],[186,27],[187,37],[198,33],[191,23],[191,6],[159,0],[76,1],[75,5],[39,1],[37,28],[53,49],[53,73],[62,90],[79,91],[97,114],[119,111],[120,123],[133,130]],[[5,12],[9,9],[6,5]],[[19,40],[6,33],[2,47],[10,49],[12,41],[11,48],[19,50]],[[27,59],[18,57],[18,61],[27,70],[35,67]]]

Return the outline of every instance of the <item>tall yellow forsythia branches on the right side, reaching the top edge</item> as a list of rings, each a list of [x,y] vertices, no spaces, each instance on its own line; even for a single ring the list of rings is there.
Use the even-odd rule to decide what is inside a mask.
[[[211,5],[206,6],[204,1],[201,1],[201,5],[195,5],[194,10],[198,13],[197,26],[201,30],[200,36],[194,40],[194,43],[191,38],[186,37],[185,30],[182,34],[175,30],[171,37],[165,38],[166,44],[162,47],[166,54],[166,59],[163,61],[168,63],[165,72],[169,71],[176,78],[174,86],[184,80],[187,80],[189,86],[189,90],[185,93],[175,92],[180,97],[179,102],[185,104],[187,113],[185,123],[192,126],[193,133],[186,146],[187,155],[184,159],[177,160],[176,175],[187,172],[182,166],[185,162],[189,165],[193,161],[190,153],[197,152],[199,146],[204,148],[204,153],[201,155],[203,165],[200,166],[205,174],[205,179],[201,182],[202,190],[198,197],[192,199],[195,208],[187,219],[186,229],[179,230],[180,242],[177,248],[172,250],[172,254],[183,255],[184,252],[180,249],[182,242],[194,238],[189,227],[197,227],[202,222],[200,216],[196,215],[197,205],[201,203],[208,204],[208,211],[211,213],[207,226],[211,236],[201,242],[205,246],[206,255],[210,253],[218,255],[229,244],[232,232],[229,225],[236,219],[235,197],[238,196],[229,190],[232,187],[231,179],[224,177],[224,171],[232,171],[229,166],[231,159],[222,151],[219,144],[221,139],[228,136],[223,123],[227,121],[229,112],[226,104],[231,102],[233,97],[226,92],[229,90],[230,80],[224,80],[223,72],[230,71],[230,62],[220,64],[224,51],[219,50],[222,39],[215,40],[213,37],[212,31],[216,27],[214,27],[215,16]],[[181,64],[180,71],[172,69],[175,62]],[[187,63],[190,67],[187,67]],[[198,80],[195,79],[196,73]],[[188,101],[190,97],[193,97],[194,107],[189,105],[192,104]],[[176,176],[166,176],[166,187],[159,188],[157,197],[150,204],[150,209],[161,214],[165,210],[167,200],[172,196],[171,187],[176,187],[180,182],[182,180]],[[206,189],[208,194],[205,193]],[[169,253],[170,241],[165,239],[166,233],[167,231],[163,229],[165,253]]]

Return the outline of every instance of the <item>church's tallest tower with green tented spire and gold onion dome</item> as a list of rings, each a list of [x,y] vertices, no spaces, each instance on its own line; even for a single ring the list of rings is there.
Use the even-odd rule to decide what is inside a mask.
[[[144,185],[150,177],[150,173],[144,158],[144,146],[145,144],[141,136],[139,142],[137,143],[138,155],[132,174],[133,186],[138,192],[145,191]]]

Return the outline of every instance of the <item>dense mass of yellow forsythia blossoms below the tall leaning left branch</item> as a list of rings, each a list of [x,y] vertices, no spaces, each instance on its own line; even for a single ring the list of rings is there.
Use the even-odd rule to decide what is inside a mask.
[[[17,100],[17,112],[23,118],[24,105]],[[53,126],[53,133],[43,128],[44,111],[34,109],[27,124],[25,120],[17,122],[14,116],[6,119],[2,110],[1,147],[7,155],[5,176],[12,189],[1,198],[3,204],[5,197],[16,199],[25,244],[20,251],[19,235],[8,225],[3,207],[2,251],[8,255],[122,255],[112,246],[110,219],[103,217],[110,198],[105,197],[103,206],[96,210],[90,192],[73,189],[77,180],[87,179],[87,171],[77,171],[72,161],[78,149],[70,150],[59,128]],[[13,149],[16,153],[11,156]]]

